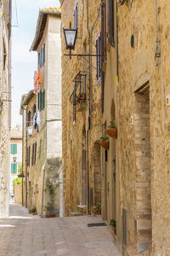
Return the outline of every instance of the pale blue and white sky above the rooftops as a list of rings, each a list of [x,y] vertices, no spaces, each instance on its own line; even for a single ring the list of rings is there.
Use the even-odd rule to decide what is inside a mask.
[[[22,123],[20,100],[34,86],[37,52],[30,52],[39,9],[59,7],[59,0],[12,0],[12,126]],[[16,15],[17,10],[17,15]],[[17,25],[18,18],[18,25]]]

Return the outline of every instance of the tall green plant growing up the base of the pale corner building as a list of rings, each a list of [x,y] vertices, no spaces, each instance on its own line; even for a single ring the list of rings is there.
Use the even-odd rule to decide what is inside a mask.
[[[55,209],[55,205],[54,205],[55,186],[49,180],[49,178],[46,180],[46,189],[48,191],[48,196],[49,196],[49,201],[47,204],[48,218],[55,218],[56,217],[56,209]]]

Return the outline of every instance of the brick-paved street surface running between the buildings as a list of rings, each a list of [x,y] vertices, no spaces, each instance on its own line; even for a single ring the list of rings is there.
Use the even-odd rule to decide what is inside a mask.
[[[88,227],[91,216],[39,218],[25,207],[10,206],[0,219],[0,256],[120,256],[108,227]]]

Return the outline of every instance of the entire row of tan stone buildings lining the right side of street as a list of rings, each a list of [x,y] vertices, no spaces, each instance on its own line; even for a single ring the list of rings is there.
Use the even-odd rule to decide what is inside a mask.
[[[78,205],[93,212],[97,195],[102,217],[108,224],[116,221],[116,246],[123,255],[169,255],[168,3],[60,3],[62,27],[78,27],[71,53],[95,55],[101,32],[102,54],[99,80],[99,60],[69,60],[62,36],[65,215]],[[77,73],[84,71],[82,104],[75,91]],[[99,137],[112,120],[117,137],[109,137],[110,148],[104,150]]]

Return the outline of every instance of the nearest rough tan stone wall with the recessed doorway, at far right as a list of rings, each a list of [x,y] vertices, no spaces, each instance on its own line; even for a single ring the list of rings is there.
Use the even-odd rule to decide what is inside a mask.
[[[157,51],[161,49],[161,57],[156,60],[155,3],[157,3],[158,23]],[[118,6],[117,146],[118,164],[121,170],[119,189],[121,203],[117,212],[122,214],[122,208],[127,210],[125,255],[169,255],[170,253],[169,59],[167,57],[169,15],[167,1],[134,0]],[[132,34],[134,48],[131,47]],[[150,90],[150,113],[145,113],[145,117],[139,120],[139,113],[144,110],[148,102],[144,102],[142,107],[142,102],[136,102],[136,93],[147,83]],[[144,122],[147,126],[146,130]],[[148,125],[150,125],[150,138]],[[144,145],[147,144],[147,140],[150,140],[150,143],[145,150]],[[122,225],[117,230],[120,234],[121,229]],[[117,246],[122,248],[121,236],[117,236]]]

